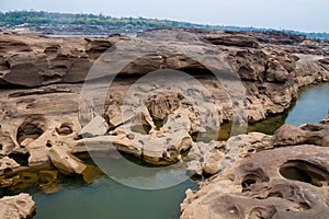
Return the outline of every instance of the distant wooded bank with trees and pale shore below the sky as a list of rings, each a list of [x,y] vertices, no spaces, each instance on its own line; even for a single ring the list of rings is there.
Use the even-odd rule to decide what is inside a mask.
[[[204,25],[145,18],[112,18],[102,14],[71,14],[44,11],[0,12],[0,30],[2,31],[33,31],[43,34],[109,35],[113,33],[136,33],[149,28],[170,26],[230,31],[273,31],[273,28]],[[308,37],[329,38],[329,33],[304,33],[288,30],[281,31],[293,34],[303,34]]]

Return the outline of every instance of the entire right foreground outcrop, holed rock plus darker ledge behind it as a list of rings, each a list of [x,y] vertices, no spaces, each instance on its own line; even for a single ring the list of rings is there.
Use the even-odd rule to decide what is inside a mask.
[[[205,164],[217,174],[200,183],[200,191],[186,191],[181,218],[327,218],[328,127],[284,125],[273,137],[230,138],[220,147],[223,154],[212,151],[213,160]],[[234,141],[241,150],[223,170],[226,148]]]

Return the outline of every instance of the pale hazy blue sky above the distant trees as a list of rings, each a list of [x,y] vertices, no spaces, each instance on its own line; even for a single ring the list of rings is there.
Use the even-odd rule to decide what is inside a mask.
[[[329,32],[329,0],[0,0],[0,11],[30,9]]]

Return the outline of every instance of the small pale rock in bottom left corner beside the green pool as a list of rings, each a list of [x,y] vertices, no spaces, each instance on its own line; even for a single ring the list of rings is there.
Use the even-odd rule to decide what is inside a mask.
[[[25,219],[32,218],[35,203],[29,194],[5,196],[0,199],[0,218]]]

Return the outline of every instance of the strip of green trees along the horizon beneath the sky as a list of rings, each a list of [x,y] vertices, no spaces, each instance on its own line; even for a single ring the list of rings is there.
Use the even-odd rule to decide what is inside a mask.
[[[240,26],[224,26],[224,25],[204,25],[193,24],[189,22],[179,22],[170,20],[145,19],[145,18],[112,18],[103,14],[72,14],[57,13],[44,11],[11,11],[0,12],[0,27],[11,28],[18,25],[38,26],[48,25],[54,27],[83,25],[83,26],[101,26],[104,28],[126,28],[126,30],[148,30],[157,27],[196,27],[207,30],[230,30],[230,31],[273,31],[273,28],[256,28]],[[329,33],[303,33],[297,31],[282,30],[286,33],[304,34],[308,37],[325,37],[329,38]]]

